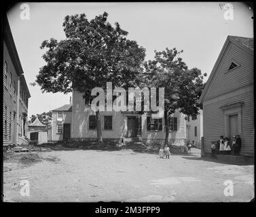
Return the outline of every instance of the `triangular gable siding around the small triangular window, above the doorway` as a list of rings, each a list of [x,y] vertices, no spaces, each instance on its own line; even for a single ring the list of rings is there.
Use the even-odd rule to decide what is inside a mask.
[[[232,60],[238,62],[240,66],[227,72]],[[230,42],[219,63],[211,87],[206,93],[206,101],[251,83],[253,83],[253,55]]]

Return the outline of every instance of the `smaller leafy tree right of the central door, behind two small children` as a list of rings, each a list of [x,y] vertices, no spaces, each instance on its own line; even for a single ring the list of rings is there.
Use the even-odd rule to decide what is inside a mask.
[[[168,117],[176,109],[195,119],[201,105],[198,100],[204,89],[203,77],[198,68],[188,69],[176,48],[155,51],[154,60],[145,62],[147,74],[141,77],[141,86],[164,87],[164,122],[166,130],[165,144],[168,144]]]

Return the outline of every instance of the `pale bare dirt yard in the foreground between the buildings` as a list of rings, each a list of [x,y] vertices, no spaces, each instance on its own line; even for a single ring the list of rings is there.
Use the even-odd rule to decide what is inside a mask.
[[[22,180],[29,195],[20,193]],[[234,184],[233,196],[224,195],[225,180]],[[44,149],[5,157],[3,193],[15,202],[251,201],[254,166],[202,159],[199,149],[170,159],[132,149]]]

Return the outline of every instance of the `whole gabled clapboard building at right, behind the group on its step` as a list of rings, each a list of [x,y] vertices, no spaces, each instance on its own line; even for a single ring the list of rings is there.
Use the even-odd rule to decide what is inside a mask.
[[[254,157],[253,39],[228,36],[200,98],[204,147],[219,136],[240,135],[240,155]]]

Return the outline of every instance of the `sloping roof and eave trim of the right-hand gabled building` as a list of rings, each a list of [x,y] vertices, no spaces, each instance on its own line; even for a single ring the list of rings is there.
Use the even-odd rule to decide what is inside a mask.
[[[211,71],[211,75],[208,78],[208,81],[206,82],[206,85],[204,87],[204,91],[202,92],[202,95],[200,96],[200,103],[204,100],[204,96],[206,95],[206,92],[208,91],[208,88],[211,86],[211,83],[213,81],[213,78],[215,77],[215,73],[217,71],[217,67],[219,66],[219,63],[221,62],[221,59],[223,57],[223,54],[225,53],[225,50],[227,48],[227,45],[232,42],[238,45],[238,47],[241,47],[246,52],[249,52],[249,54],[253,55],[253,45],[254,41],[253,38],[246,38],[246,37],[238,37],[238,36],[227,36],[227,39],[225,40],[225,43],[221,49],[221,53],[219,54],[217,61],[215,62],[215,65],[213,66],[213,70]]]

